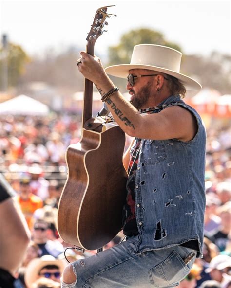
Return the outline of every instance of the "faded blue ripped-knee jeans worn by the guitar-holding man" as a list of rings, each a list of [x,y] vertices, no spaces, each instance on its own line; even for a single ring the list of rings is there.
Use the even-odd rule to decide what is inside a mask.
[[[72,263],[77,280],[62,283],[62,288],[164,288],[179,284],[191,270],[192,260],[183,261],[190,248],[179,245],[171,248],[134,254],[135,244],[128,239],[94,256]]]

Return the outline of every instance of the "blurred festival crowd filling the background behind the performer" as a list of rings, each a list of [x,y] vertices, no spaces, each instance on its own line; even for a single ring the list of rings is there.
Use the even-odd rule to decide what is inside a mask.
[[[17,192],[15,199],[32,235],[16,275],[25,288],[60,287],[68,261],[96,253],[67,249],[64,254],[72,245],[57,231],[58,201],[67,172],[65,151],[80,139],[79,120],[55,114],[0,119],[0,173]],[[231,288],[231,128],[222,122],[207,127],[205,186],[203,258],[196,259],[178,287]],[[122,239],[118,234],[104,249]]]

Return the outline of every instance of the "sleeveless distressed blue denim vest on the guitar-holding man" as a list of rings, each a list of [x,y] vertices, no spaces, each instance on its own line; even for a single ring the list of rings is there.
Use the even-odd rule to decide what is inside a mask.
[[[135,179],[135,212],[139,234],[134,253],[198,240],[202,257],[205,211],[206,131],[198,113],[180,96],[163,101],[162,109],[179,105],[196,118],[191,141],[142,139]]]

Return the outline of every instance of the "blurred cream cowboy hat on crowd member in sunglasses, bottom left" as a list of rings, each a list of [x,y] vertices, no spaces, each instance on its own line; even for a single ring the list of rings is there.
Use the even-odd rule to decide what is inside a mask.
[[[58,266],[60,273],[63,272],[65,264],[62,260],[57,260],[51,255],[44,255],[41,258],[32,259],[25,271],[25,283],[28,288],[32,287],[32,284],[39,278],[40,270],[47,265]]]

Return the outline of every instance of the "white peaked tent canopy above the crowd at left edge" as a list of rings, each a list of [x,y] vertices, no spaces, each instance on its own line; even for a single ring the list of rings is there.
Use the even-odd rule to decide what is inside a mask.
[[[47,105],[26,95],[0,103],[0,114],[44,116],[48,112]]]

